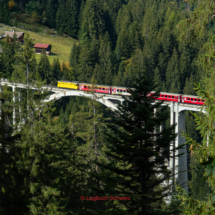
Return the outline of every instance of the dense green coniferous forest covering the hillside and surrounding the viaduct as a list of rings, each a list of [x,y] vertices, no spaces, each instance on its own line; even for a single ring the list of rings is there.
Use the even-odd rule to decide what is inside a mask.
[[[78,41],[68,65],[45,50],[38,62],[28,34],[0,40],[0,78],[39,89],[0,85],[0,214],[214,214],[214,11],[212,0],[0,0],[0,23],[28,14]],[[43,103],[41,86],[59,80],[131,96],[116,112],[94,92]],[[206,115],[186,112],[188,196],[167,183],[175,125],[151,91],[205,100]]]

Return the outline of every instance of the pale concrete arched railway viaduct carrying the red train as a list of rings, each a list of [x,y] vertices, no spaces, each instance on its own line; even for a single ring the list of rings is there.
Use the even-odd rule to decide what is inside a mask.
[[[20,83],[12,83],[8,82],[7,80],[1,80],[0,81],[0,92],[1,92],[1,86],[7,85],[9,87],[12,87],[13,92],[18,91],[18,97],[20,100],[21,93],[19,89],[32,89],[32,90],[47,90],[49,92],[52,92],[53,94],[50,95],[48,98],[43,100],[43,102],[49,102],[53,100],[58,100],[62,97],[66,96],[81,96],[93,99],[93,95],[80,90],[71,90],[71,89],[62,89],[58,87],[52,87],[52,86],[43,86],[40,89],[34,86],[28,86],[26,84],[20,84]],[[107,106],[108,108],[114,110],[117,110],[117,104],[122,103],[124,101],[123,97],[120,95],[111,95],[111,94],[102,94],[102,93],[95,93],[95,99]],[[13,97],[13,101],[15,102],[16,98]],[[1,105],[1,104],[0,104]],[[176,123],[175,132],[177,133],[177,137],[173,144],[170,146],[170,150],[174,149],[175,147],[178,147],[185,143],[185,138],[181,135],[183,131],[185,131],[185,111],[200,111],[201,105],[193,105],[193,104],[184,104],[179,102],[173,102],[173,101],[165,101],[163,105],[168,105],[170,107],[170,124]],[[0,108],[1,109],[1,108]],[[201,110],[204,112],[204,110]],[[0,112],[1,113],[1,112]],[[13,110],[13,124],[15,124],[15,108]],[[160,128],[162,129],[162,127]],[[180,157],[176,158],[170,158],[168,161],[169,168],[175,173],[175,181],[178,181],[180,185],[186,190],[188,193],[188,172],[187,172],[187,149],[186,145],[177,150],[175,152],[175,155],[181,154]],[[171,154],[173,155],[173,154]]]

